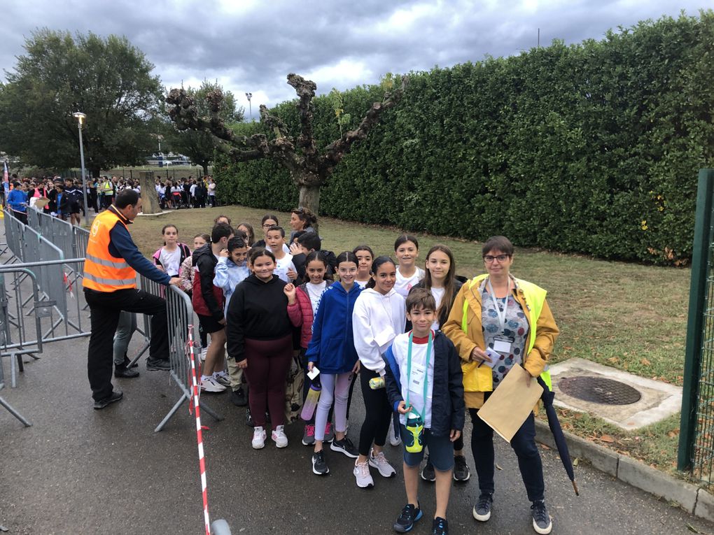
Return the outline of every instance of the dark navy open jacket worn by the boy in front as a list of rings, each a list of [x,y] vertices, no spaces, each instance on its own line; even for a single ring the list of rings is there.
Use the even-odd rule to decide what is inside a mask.
[[[434,337],[434,384],[431,394],[431,434],[448,437],[451,429],[463,429],[463,372],[456,347],[441,331]],[[387,397],[396,411],[401,395],[399,366],[390,347],[383,355],[387,363],[385,376]]]

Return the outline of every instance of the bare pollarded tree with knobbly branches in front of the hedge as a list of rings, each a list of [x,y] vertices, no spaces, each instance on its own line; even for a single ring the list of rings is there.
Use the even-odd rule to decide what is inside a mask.
[[[300,118],[300,133],[295,138],[288,133],[286,124],[280,118],[268,113],[268,108],[261,105],[261,123],[271,132],[266,134],[236,136],[226,127],[221,118],[221,91],[212,91],[206,95],[210,113],[201,116],[196,101],[183,89],[172,89],[166,102],[169,103],[169,116],[178,130],[197,130],[210,132],[216,139],[216,149],[228,155],[234,162],[246,162],[259,158],[271,158],[287,168],[300,193],[299,205],[319,213],[320,188],[328,180],[335,165],[350,151],[355,143],[367,137],[369,131],[379,123],[381,114],[396,106],[403,96],[408,78],[386,78],[386,88],[381,102],[375,102],[367,111],[359,126],[343,133],[336,141],[318,150],[313,136],[313,98],[316,83],[297,74],[288,74],[288,84],[295,88],[298,95],[296,106]]]

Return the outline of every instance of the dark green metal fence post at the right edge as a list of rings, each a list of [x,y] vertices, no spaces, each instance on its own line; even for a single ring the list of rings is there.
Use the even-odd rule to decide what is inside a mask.
[[[711,245],[712,195],[714,169],[700,169],[697,188],[697,210],[692,248],[692,275],[689,290],[687,345],[684,360],[682,417],[680,421],[677,469],[692,467],[694,443],[697,435],[697,414],[701,352],[703,341],[706,283],[709,272]]]

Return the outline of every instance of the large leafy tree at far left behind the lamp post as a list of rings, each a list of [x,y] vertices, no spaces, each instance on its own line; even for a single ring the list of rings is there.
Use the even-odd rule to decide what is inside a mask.
[[[84,155],[93,174],[139,163],[153,144],[161,103],[159,78],[125,37],[43,29],[25,42],[0,86],[3,148],[27,163],[68,168],[79,163],[76,119],[86,113]]]

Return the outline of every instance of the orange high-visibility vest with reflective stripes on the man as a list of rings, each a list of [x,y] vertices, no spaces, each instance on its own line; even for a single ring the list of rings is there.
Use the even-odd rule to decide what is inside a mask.
[[[119,221],[124,223],[112,210],[104,210],[94,218],[89,232],[89,243],[84,260],[84,280],[82,285],[98,292],[116,292],[126,288],[136,288],[136,271],[124,258],[109,254],[109,231]],[[129,230],[129,229],[127,229]]]

